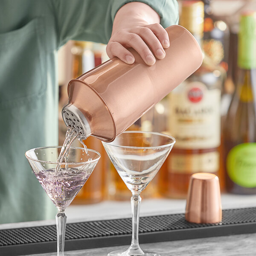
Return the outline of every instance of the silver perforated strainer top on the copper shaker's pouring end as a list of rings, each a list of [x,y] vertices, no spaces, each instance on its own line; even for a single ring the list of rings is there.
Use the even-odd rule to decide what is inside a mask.
[[[73,104],[64,106],[62,109],[62,118],[67,126],[70,125],[75,129],[79,138],[85,140],[91,134],[87,119]]]

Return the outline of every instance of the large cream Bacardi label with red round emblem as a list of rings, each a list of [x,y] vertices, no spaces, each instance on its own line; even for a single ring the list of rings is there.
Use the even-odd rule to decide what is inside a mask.
[[[176,88],[177,89],[177,88]],[[190,82],[170,93],[169,131],[177,148],[216,148],[220,145],[221,90]]]

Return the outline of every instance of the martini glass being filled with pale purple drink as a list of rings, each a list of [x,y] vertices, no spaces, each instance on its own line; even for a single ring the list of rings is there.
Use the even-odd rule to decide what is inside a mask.
[[[37,177],[39,183],[58,209],[57,226],[57,256],[64,256],[64,239],[67,216],[65,209],[73,201],[94,167],[99,161],[97,151],[70,147],[66,161],[57,161],[61,146],[33,148],[26,151],[25,156]],[[55,172],[59,165],[58,172]]]

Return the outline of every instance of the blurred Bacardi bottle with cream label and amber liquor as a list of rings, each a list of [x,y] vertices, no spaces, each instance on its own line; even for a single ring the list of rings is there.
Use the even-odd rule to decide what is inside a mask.
[[[204,3],[182,1],[181,10],[180,25],[202,47]],[[163,196],[186,198],[193,173],[219,175],[221,74],[220,67],[204,55],[201,67],[169,94],[168,133],[176,143],[159,171]]]

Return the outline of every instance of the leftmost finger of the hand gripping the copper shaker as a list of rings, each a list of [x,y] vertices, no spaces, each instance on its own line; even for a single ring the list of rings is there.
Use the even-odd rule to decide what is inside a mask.
[[[121,61],[124,61],[127,64],[133,64],[135,61],[134,55],[128,51],[122,44],[118,42],[110,41],[107,45],[106,52],[109,58],[116,56]]]

